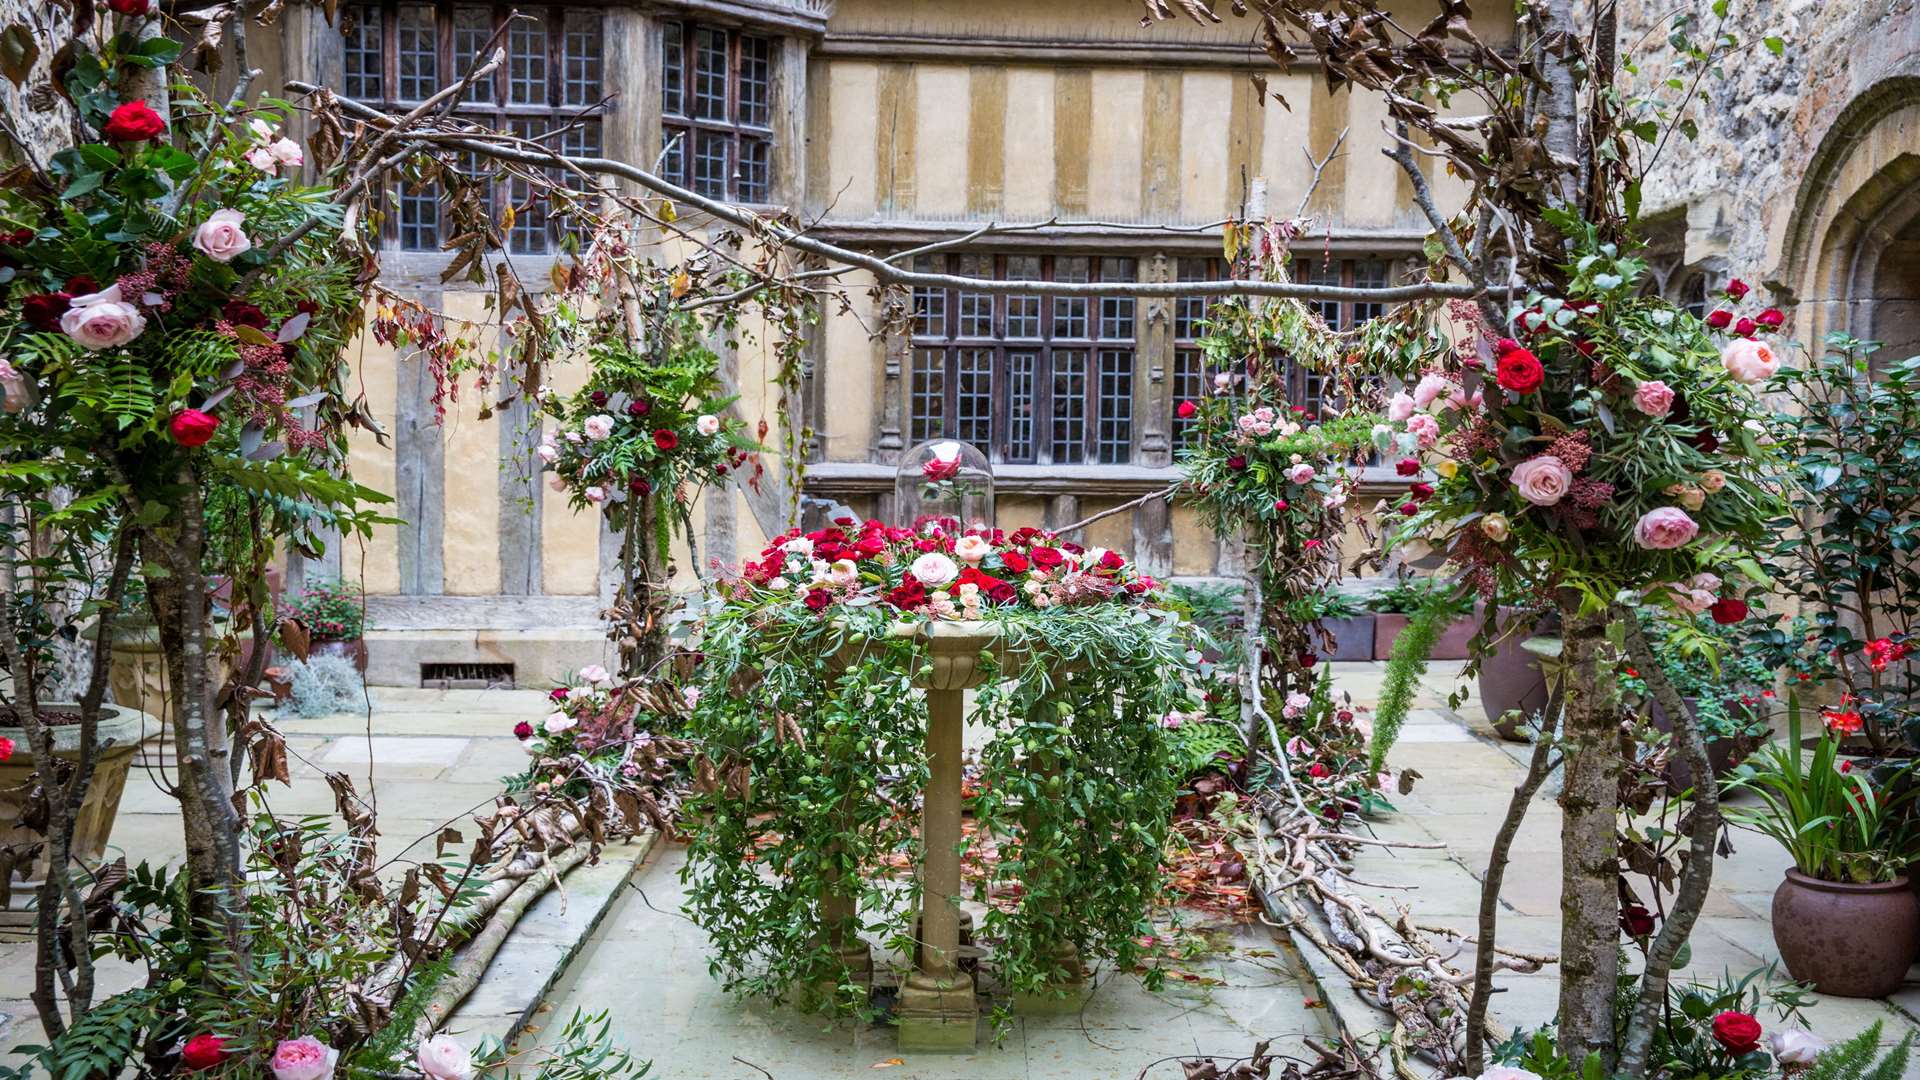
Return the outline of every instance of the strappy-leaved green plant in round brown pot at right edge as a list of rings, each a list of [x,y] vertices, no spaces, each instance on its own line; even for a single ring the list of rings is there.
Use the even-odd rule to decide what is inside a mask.
[[[1747,759],[1726,790],[1761,799],[1726,807],[1728,821],[1772,836],[1793,857],[1772,907],[1788,972],[1839,997],[1899,990],[1920,934],[1920,899],[1903,872],[1916,851],[1912,786],[1874,782],[1839,757],[1828,730],[1803,759],[1799,700],[1791,700],[1788,740]]]

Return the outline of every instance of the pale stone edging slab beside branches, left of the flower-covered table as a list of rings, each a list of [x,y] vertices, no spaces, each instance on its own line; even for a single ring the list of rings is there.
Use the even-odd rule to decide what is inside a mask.
[[[490,1036],[511,1045],[620,899],[657,836],[647,832],[609,844],[597,863],[574,867],[559,888],[534,901],[493,953],[480,984],[440,1030],[459,1038],[468,1049]]]

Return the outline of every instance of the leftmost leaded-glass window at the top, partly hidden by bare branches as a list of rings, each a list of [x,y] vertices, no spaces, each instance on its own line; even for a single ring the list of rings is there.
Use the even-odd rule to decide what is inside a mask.
[[[444,86],[457,71],[465,71],[472,60],[472,52],[492,37],[513,10],[515,6],[509,4],[461,0],[363,0],[349,4],[346,8],[348,25],[342,27],[340,46],[344,67],[342,88],[348,96],[361,98],[376,108],[411,108],[426,96],[420,90],[426,90],[426,86]],[[363,37],[369,12],[380,17],[380,29],[371,48]],[[415,50],[409,56],[415,61],[432,58],[432,69],[424,73],[420,67],[409,71],[403,65],[403,60],[409,56],[401,56],[407,33],[419,33],[419,23],[409,25],[409,15],[417,15],[419,12],[432,13],[434,48],[432,52]],[[538,52],[516,50],[516,42],[522,46],[530,44],[530,35],[536,33],[532,23],[516,23],[509,29],[505,38],[509,61],[486,85],[470,88],[457,113],[522,136],[551,136],[553,131],[561,131],[559,146],[563,152],[582,156],[601,154],[607,142],[605,123],[616,113],[614,100],[605,92],[605,29],[611,8],[603,4],[541,4],[520,8],[520,12],[540,17],[538,33],[545,37],[543,48]],[[488,21],[472,25],[463,19],[463,15],[474,13],[486,13]],[[582,33],[572,23],[586,17],[591,17],[593,25]],[[538,58],[541,67],[538,83],[528,83],[520,77],[526,67],[516,61],[522,58],[528,63]],[[369,73],[369,67],[376,69]],[[374,81],[369,83],[369,77]],[[401,90],[409,88],[409,79],[417,79],[419,83],[411,86],[411,92],[403,94]],[[528,85],[538,85],[543,100],[515,100],[516,96],[532,96],[518,90]],[[467,173],[478,181],[482,179],[482,165],[468,161]],[[561,254],[564,236],[547,219],[543,208],[526,204],[530,198],[528,184],[513,181],[499,171],[488,173],[484,179],[486,204],[493,208],[511,202],[518,209],[513,229],[503,238],[503,252],[520,258],[551,258]],[[386,192],[388,213],[380,227],[382,248],[403,254],[409,261],[420,258],[444,259],[440,244],[445,238],[445,221],[440,217],[440,202],[438,184],[401,183],[390,188]]]

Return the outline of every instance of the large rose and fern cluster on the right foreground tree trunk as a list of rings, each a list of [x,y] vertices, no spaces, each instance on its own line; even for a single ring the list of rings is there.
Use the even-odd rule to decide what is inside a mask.
[[[1478,331],[1490,365],[1461,356],[1388,405],[1423,425],[1442,477],[1405,534],[1446,544],[1488,598],[1571,588],[1605,605],[1636,588],[1680,607],[1738,601],[1724,578],[1764,580],[1749,550],[1782,507],[1759,398],[1780,367],[1766,340],[1780,311],[1736,321],[1722,307],[1703,323],[1638,294],[1644,259],[1590,231],[1574,242],[1563,296],[1517,302],[1515,336]],[[1747,292],[1734,281],[1724,300]],[[1482,388],[1465,392],[1469,380]]]

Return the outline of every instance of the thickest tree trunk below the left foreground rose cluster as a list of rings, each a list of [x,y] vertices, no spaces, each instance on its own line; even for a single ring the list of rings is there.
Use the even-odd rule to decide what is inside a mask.
[[[225,715],[213,705],[207,651],[205,521],[200,479],[180,467],[179,513],[142,528],[142,548],[165,575],[148,578],[148,603],[173,688],[173,749],[180,761],[180,828],[196,920],[219,926],[234,963],[246,955],[240,809]],[[156,559],[157,555],[157,559]],[[255,648],[263,648],[257,644]]]

